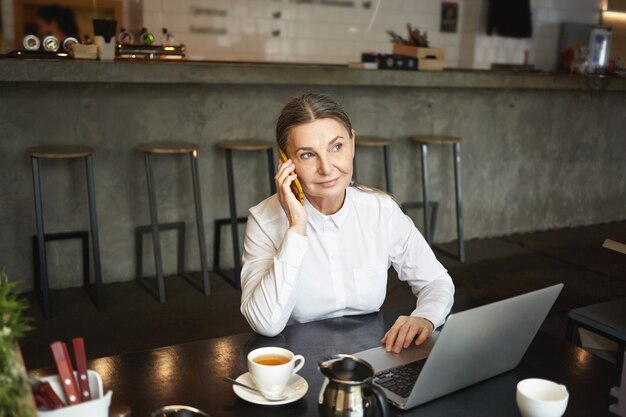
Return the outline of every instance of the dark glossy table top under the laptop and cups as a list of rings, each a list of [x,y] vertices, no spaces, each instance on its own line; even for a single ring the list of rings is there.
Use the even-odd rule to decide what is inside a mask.
[[[379,339],[401,310],[342,317],[287,327],[268,338],[239,334],[129,353],[90,361],[102,375],[112,404],[132,408],[133,417],[168,404],[185,404],[219,416],[318,416],[317,397],[323,377],[318,361],[336,353],[355,353],[379,345]],[[281,406],[260,406],[239,399],[225,375],[246,372],[246,355],[257,347],[282,346],[305,356],[300,375],[309,391],[300,400]],[[36,373],[46,373],[45,370]],[[617,385],[615,365],[543,332],[535,337],[514,370],[453,394],[393,415],[407,416],[519,416],[515,403],[517,382],[546,378],[567,386],[570,400],[565,416],[608,416],[609,390]]]

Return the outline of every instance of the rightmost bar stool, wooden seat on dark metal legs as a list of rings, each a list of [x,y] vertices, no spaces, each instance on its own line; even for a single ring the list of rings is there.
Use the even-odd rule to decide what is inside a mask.
[[[414,135],[411,137],[413,142],[420,145],[422,156],[422,203],[407,203],[407,207],[417,207],[421,205],[424,208],[424,229],[426,241],[433,248],[456,257],[460,262],[465,261],[465,247],[463,243],[463,207],[461,201],[461,139],[454,136],[443,135]],[[436,212],[438,204],[432,204],[429,199],[428,190],[428,145],[452,145],[452,154],[454,158],[454,190],[456,199],[456,232],[457,232],[457,251],[452,252],[448,249],[434,245],[433,238],[435,234]],[[430,215],[430,208],[434,208]]]

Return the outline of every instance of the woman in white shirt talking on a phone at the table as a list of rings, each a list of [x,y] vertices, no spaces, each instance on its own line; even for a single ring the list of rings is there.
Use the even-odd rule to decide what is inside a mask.
[[[454,285],[415,225],[388,195],[352,182],[354,129],[330,97],[304,94],[278,118],[275,195],[250,209],[241,271],[241,312],[257,332],[289,322],[378,311],[387,270],[417,296],[381,342],[400,352],[443,324]],[[298,179],[304,205],[291,191]],[[417,337],[417,338],[416,338]]]

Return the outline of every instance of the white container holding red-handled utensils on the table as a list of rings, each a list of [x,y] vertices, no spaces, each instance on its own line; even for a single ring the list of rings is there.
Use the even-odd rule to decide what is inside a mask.
[[[37,410],[37,417],[109,417],[109,406],[111,405],[113,393],[111,391],[104,393],[102,378],[97,372],[88,370],[87,376],[89,378],[91,400],[56,410]],[[47,376],[41,378],[41,380],[48,382],[59,398],[65,398],[58,375]]]

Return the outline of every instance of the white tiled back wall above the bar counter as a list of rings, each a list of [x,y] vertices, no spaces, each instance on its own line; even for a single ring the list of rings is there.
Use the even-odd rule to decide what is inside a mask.
[[[128,4],[122,0],[125,13]],[[406,23],[428,32],[431,45],[445,50],[446,67],[489,68],[492,62],[556,65],[559,25],[596,24],[602,0],[531,0],[532,39],[486,35],[488,0],[458,0],[457,33],[439,32],[441,0],[380,0],[365,9],[297,4],[295,0],[143,0],[143,24],[153,33],[167,27],[187,45],[190,59],[344,64],[361,52],[391,52],[386,30],[406,36]],[[450,0],[447,0],[450,1]],[[13,0],[0,0],[4,50],[13,48]],[[192,8],[226,11],[225,16],[193,15]],[[280,18],[274,13],[280,12]],[[125,16],[126,17],[126,16]],[[370,31],[368,26],[372,23]],[[226,29],[226,34],[191,33],[192,26]],[[279,34],[277,34],[280,32]],[[473,50],[473,51],[472,51]]]

